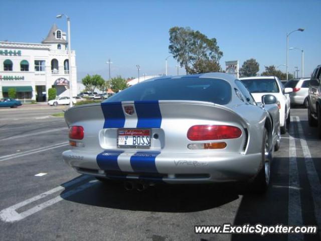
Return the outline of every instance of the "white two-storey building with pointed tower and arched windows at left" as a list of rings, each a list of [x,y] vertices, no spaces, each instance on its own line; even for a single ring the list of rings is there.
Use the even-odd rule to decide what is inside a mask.
[[[39,43],[0,42],[0,98],[16,89],[17,99],[48,100],[48,89],[58,96],[69,96],[69,71],[72,93],[77,95],[76,54],[68,60],[66,33],[55,24]]]

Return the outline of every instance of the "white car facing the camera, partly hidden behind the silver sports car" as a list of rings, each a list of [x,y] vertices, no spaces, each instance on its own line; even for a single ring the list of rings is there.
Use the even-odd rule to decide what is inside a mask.
[[[293,92],[292,88],[284,88],[281,81],[275,76],[259,76],[240,78],[242,83],[251,92],[255,102],[261,103],[261,98],[265,94],[272,94],[279,101],[280,111],[280,131],[286,133],[290,125],[290,97],[289,93]]]

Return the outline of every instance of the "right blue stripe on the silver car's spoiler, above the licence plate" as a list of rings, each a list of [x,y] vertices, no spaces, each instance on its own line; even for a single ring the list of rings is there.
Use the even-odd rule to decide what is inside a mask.
[[[162,114],[158,100],[135,101],[137,128],[161,128]]]

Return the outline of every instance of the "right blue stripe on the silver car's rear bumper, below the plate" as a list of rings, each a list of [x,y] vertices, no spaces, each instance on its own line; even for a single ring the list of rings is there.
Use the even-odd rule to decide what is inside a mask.
[[[134,172],[158,173],[155,159],[159,152],[145,153],[137,152],[130,157],[130,165]]]

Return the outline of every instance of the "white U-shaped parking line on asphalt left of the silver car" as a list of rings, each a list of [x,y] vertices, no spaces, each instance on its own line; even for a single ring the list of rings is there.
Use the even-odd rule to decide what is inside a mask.
[[[54,197],[54,198],[52,198],[52,199],[50,199],[50,200],[48,200],[46,202],[38,204],[38,205],[36,205],[36,206],[34,206],[34,207],[24,211],[24,212],[18,213],[16,211],[18,208],[21,208],[23,206],[26,206],[29,203],[32,203],[34,201],[37,201],[37,200],[42,199],[44,197],[47,197],[48,195],[51,195],[53,193],[56,193],[56,192],[59,192],[59,191],[63,191],[63,190],[65,190],[65,188],[67,188],[67,187],[69,187],[71,185],[74,185],[75,183],[81,182],[81,181],[83,181],[85,179],[88,179],[88,178],[89,178],[89,176],[87,176],[87,175],[80,176],[77,179],[74,179],[74,180],[72,180],[70,182],[65,183],[64,186],[55,187],[55,188],[53,188],[53,189],[51,189],[51,190],[49,190],[47,192],[41,193],[41,194],[39,194],[37,196],[29,198],[29,199],[27,199],[25,201],[22,201],[20,203],[17,203],[15,205],[11,206],[11,207],[3,209],[3,210],[0,211],[0,219],[3,220],[4,222],[16,222],[16,221],[22,220],[22,219],[24,219],[24,218],[26,218],[26,217],[28,217],[28,216],[36,213],[36,212],[41,211],[42,209],[44,209],[46,207],[49,207],[49,206],[51,206],[51,205],[53,205],[53,204],[55,204],[57,202],[60,202],[61,200],[65,199],[65,198],[67,198],[67,197],[69,197],[69,196],[71,196],[71,195],[73,195],[73,194],[75,194],[77,192],[83,191],[86,188],[91,187],[92,185],[94,185],[94,184],[96,184],[98,182],[97,180],[92,180],[90,182],[87,182],[87,183],[79,186],[79,187],[76,187],[75,189],[72,189],[72,190],[70,190],[68,192],[65,192],[65,193],[63,193],[63,194],[61,194],[61,195],[59,195],[57,197]]]

